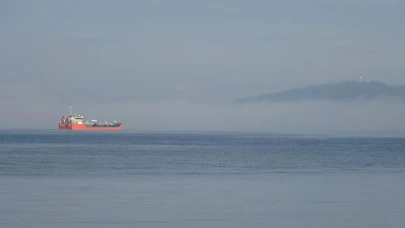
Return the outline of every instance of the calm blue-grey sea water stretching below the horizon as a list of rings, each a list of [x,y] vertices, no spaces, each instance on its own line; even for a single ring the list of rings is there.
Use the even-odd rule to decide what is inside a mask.
[[[0,131],[0,227],[405,227],[405,138]]]

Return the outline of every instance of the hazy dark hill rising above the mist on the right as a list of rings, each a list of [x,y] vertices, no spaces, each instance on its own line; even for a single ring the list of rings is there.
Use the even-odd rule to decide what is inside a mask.
[[[299,102],[305,100],[351,102],[356,100],[369,101],[376,98],[405,101],[405,85],[392,86],[375,81],[344,81],[248,97],[238,100],[237,103]]]

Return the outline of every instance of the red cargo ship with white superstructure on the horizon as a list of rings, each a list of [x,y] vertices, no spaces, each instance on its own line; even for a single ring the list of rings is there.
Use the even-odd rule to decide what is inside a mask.
[[[122,123],[114,121],[113,123],[99,123],[97,120],[91,122],[83,122],[82,115],[73,115],[72,106],[70,107],[70,114],[62,116],[59,121],[59,130],[73,130],[73,131],[120,131],[122,130]]]

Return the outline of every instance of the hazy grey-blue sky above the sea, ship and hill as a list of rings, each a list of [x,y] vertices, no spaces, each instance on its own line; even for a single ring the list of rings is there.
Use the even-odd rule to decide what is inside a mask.
[[[223,104],[359,77],[405,84],[404,27],[400,0],[1,0],[0,128],[53,128],[73,105],[135,129],[282,129],[250,120],[283,108]]]

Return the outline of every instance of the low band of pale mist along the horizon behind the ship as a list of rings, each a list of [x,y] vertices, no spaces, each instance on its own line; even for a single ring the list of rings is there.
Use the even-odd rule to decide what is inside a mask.
[[[29,110],[34,105],[27,105]],[[17,104],[3,110],[5,115],[21,117],[18,125],[2,122],[6,129],[56,129],[69,106],[39,106],[47,110],[41,117],[25,118]],[[39,108],[38,106],[36,108]],[[34,107],[33,107],[34,109]],[[49,112],[48,112],[49,110]],[[109,105],[77,105],[74,112],[86,120],[124,123],[125,130],[169,131],[244,131],[300,134],[338,134],[403,136],[405,105],[392,100],[292,103],[224,104],[222,102],[162,101]]]

